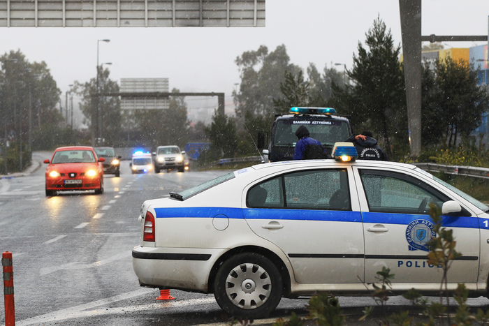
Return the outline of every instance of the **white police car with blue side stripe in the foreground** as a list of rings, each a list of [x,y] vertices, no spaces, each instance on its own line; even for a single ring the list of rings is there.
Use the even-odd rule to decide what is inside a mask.
[[[221,309],[260,318],[281,297],[372,289],[395,274],[393,292],[438,293],[441,268],[428,264],[441,207],[462,256],[448,288],[486,295],[489,207],[414,165],[336,159],[265,163],[207,181],[141,207],[133,269],[141,286],[214,293]]]

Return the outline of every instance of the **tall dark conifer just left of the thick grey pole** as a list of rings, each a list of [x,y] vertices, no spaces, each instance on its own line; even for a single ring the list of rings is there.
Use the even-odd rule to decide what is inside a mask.
[[[380,18],[366,36],[369,49],[358,43],[358,56],[353,55],[353,68],[346,72],[353,83],[345,91],[333,87],[334,103],[349,110],[356,126],[380,135],[392,156],[391,143],[401,146],[408,140],[400,45],[394,46],[391,31]]]

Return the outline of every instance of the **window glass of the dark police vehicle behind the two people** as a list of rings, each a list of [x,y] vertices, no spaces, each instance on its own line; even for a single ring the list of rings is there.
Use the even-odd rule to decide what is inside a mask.
[[[333,147],[335,142],[344,142],[349,138],[349,125],[346,121],[333,119],[317,120],[279,120],[275,132],[274,146],[291,146],[298,141],[295,131],[299,126],[306,126],[309,136],[319,140],[321,144]]]

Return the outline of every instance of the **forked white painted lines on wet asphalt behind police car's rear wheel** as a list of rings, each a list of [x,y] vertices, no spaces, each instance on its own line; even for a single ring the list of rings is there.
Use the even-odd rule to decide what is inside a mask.
[[[87,304],[81,304],[80,306],[74,306],[68,309],[63,309],[59,311],[55,311],[53,313],[46,313],[45,315],[36,316],[29,319],[24,319],[17,321],[15,325],[17,326],[27,326],[27,325],[35,325],[38,323],[48,323],[51,321],[61,321],[72,318],[89,318],[94,316],[103,316],[103,315],[114,315],[114,314],[124,314],[128,312],[135,311],[145,311],[151,309],[161,309],[161,308],[177,308],[182,306],[198,306],[200,304],[212,304],[212,302],[216,302],[214,297],[205,297],[202,299],[189,299],[185,301],[178,300],[168,300],[165,302],[158,302],[154,304],[144,304],[138,306],[124,306],[118,308],[108,308],[108,309],[96,309],[96,310],[87,310],[94,309],[97,306],[103,306],[105,304],[111,304],[113,302],[131,299],[131,297],[138,297],[140,295],[147,295],[151,292],[154,292],[154,289],[143,288],[140,290],[136,290],[133,292],[124,293],[123,295],[116,295],[115,297],[110,297],[107,299],[100,299],[94,302],[89,302]]]

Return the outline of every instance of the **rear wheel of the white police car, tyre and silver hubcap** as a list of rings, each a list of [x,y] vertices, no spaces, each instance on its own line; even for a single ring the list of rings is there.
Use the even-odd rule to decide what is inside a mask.
[[[233,255],[217,270],[214,297],[221,309],[231,316],[267,317],[282,299],[282,276],[264,255]]]

